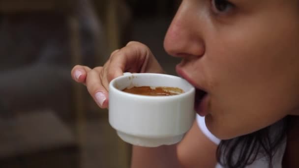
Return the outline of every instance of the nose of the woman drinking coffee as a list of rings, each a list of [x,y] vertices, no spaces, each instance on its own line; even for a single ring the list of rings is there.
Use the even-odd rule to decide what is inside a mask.
[[[167,30],[164,39],[164,49],[176,57],[203,56],[205,44],[200,28],[198,9],[192,4],[181,3],[176,16]]]

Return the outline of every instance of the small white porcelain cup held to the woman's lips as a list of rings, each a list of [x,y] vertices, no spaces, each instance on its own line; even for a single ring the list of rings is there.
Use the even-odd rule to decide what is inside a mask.
[[[122,91],[132,86],[178,87],[184,93],[144,96]],[[174,144],[194,122],[194,96],[195,88],[176,76],[124,73],[109,85],[109,123],[122,140],[133,145]]]

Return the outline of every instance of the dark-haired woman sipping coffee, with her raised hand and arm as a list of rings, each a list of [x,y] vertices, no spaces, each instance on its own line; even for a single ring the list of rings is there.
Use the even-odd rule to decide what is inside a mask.
[[[182,0],[164,48],[182,58],[201,116],[177,145],[134,146],[132,168],[299,167],[298,43],[299,0]],[[109,82],[126,71],[163,73],[130,42],[72,77],[107,108]]]

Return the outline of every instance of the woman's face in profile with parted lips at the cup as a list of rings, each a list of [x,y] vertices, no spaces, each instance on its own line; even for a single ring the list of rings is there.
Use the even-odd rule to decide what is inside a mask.
[[[299,0],[182,0],[164,47],[218,138],[298,114]]]

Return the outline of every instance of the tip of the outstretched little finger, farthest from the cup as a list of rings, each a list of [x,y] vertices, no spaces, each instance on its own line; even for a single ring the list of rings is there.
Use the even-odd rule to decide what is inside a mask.
[[[71,71],[71,76],[74,81],[85,84],[87,73],[90,70],[88,66],[76,65]]]

